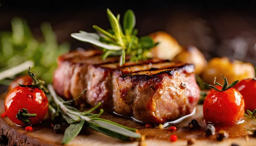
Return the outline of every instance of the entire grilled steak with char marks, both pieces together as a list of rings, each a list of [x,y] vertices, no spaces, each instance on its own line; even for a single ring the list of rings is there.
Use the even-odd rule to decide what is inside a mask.
[[[100,50],[74,51],[58,58],[53,87],[66,100],[79,101],[133,116],[144,123],[164,123],[191,113],[200,90],[192,64],[151,59],[119,66],[119,57],[101,60]],[[128,57],[127,57],[128,59]]]

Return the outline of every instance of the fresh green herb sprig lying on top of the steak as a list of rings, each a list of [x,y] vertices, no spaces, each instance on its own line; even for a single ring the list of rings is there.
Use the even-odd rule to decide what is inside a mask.
[[[99,34],[80,31],[79,33],[72,33],[71,36],[101,48],[103,50],[102,59],[108,56],[120,55],[120,66],[125,63],[126,55],[131,56],[131,61],[145,60],[150,57],[150,48],[157,45],[157,43],[154,43],[150,36],[137,37],[138,30],[134,29],[136,20],[132,10],[127,10],[124,14],[123,28],[119,23],[119,14],[114,16],[107,9],[107,17],[112,29],[104,30],[97,25],[93,25],[93,28]]]

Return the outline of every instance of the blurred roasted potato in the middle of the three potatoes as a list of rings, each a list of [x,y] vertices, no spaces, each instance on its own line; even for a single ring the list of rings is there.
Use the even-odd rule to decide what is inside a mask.
[[[183,47],[172,60],[182,61],[185,63],[193,63],[195,65],[195,73],[200,74],[207,65],[207,61],[203,53],[193,45]]]

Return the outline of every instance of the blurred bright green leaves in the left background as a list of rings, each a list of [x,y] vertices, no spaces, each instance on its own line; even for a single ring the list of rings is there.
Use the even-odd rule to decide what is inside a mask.
[[[13,18],[11,26],[12,32],[0,32],[0,71],[33,60],[33,70],[37,76],[51,83],[57,67],[56,60],[59,55],[69,51],[69,43],[58,45],[50,23],[41,24],[43,41],[35,39],[27,22],[21,18]]]

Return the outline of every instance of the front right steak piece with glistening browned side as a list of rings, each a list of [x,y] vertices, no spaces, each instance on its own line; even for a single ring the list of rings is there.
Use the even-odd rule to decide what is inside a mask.
[[[123,103],[116,102],[114,107],[127,109],[125,103],[130,107],[127,116],[145,123],[163,123],[185,116],[193,111],[200,94],[193,68],[193,65],[177,64],[169,69],[119,76],[116,88],[120,96],[113,97]]]

